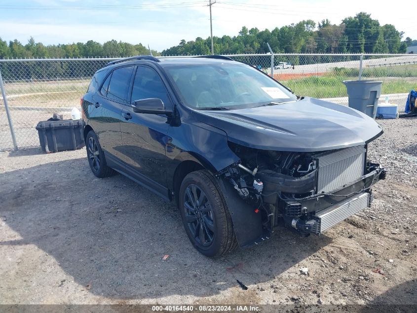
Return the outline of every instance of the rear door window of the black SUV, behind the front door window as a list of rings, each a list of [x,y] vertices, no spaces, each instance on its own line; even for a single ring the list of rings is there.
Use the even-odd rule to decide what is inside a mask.
[[[107,97],[116,101],[126,102],[132,72],[133,66],[115,69],[112,73],[112,78],[110,79]]]

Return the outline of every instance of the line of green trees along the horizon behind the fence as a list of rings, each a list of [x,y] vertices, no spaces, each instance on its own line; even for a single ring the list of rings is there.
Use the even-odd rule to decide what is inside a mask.
[[[215,54],[267,53],[268,43],[274,53],[405,53],[407,46],[417,45],[416,40],[397,31],[394,25],[380,25],[371,14],[361,12],[332,24],[328,19],[317,25],[313,20],[274,28],[272,31],[242,27],[237,36],[213,37]],[[152,50],[153,55],[210,54],[211,39],[197,37],[193,41],[181,40],[179,45]],[[0,38],[0,58],[60,58],[60,57],[124,57],[149,54],[142,45],[111,40],[103,45],[90,40],[86,43],[43,45],[31,37],[26,45],[17,40]]]

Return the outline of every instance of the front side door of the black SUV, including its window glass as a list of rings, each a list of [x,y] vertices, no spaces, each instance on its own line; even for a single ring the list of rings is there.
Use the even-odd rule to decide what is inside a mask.
[[[165,115],[135,113],[135,100],[159,98],[166,108],[172,100],[158,73],[146,65],[137,67],[131,101],[122,110],[120,123],[123,154],[128,173],[163,196],[167,196],[165,148],[169,121]]]

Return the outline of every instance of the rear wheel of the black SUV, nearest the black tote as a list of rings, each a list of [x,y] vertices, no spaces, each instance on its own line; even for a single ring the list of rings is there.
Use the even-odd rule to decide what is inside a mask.
[[[105,178],[114,174],[114,170],[107,166],[104,152],[99,139],[93,131],[89,131],[85,138],[88,164],[91,172],[98,178]]]

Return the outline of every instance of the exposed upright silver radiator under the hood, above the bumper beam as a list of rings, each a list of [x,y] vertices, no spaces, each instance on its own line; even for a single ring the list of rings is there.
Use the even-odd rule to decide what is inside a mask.
[[[365,147],[344,148],[317,157],[317,193],[329,192],[363,175]]]

